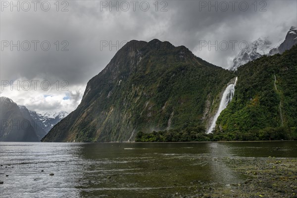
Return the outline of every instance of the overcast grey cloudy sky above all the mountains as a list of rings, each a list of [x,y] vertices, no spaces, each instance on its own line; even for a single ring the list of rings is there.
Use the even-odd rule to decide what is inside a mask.
[[[297,26],[296,0],[0,2],[0,95],[37,112],[74,110],[87,82],[130,40],[169,41],[228,68],[240,42],[277,43]],[[216,41],[217,50],[205,46]]]

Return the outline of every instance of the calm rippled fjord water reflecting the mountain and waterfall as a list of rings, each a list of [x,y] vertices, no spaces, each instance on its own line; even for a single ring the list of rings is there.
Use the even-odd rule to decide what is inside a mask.
[[[0,197],[192,195],[199,191],[197,188],[215,188],[246,179],[220,159],[268,156],[297,157],[297,143],[1,142]]]

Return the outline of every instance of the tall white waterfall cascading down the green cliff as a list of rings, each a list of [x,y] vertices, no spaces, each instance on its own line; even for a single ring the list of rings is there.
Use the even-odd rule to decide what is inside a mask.
[[[235,83],[228,85],[228,87],[225,89],[224,94],[221,99],[221,102],[220,102],[219,109],[218,109],[217,113],[215,114],[215,116],[213,117],[211,125],[210,125],[209,129],[207,130],[207,134],[211,133],[212,130],[215,128],[215,123],[216,123],[220,113],[222,112],[222,110],[224,110],[227,107],[229,102],[231,102],[231,100],[233,99],[236,82],[237,82],[237,77],[235,79]]]

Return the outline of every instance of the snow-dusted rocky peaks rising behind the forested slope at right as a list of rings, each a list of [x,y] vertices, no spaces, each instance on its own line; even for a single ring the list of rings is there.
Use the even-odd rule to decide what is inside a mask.
[[[272,45],[268,39],[259,38],[253,43],[248,44],[246,49],[243,49],[233,60],[233,66],[230,70],[237,70],[239,66],[255,60],[263,55],[274,55],[283,53],[287,49],[291,49],[297,44],[297,28],[292,26],[288,31],[283,42]]]

